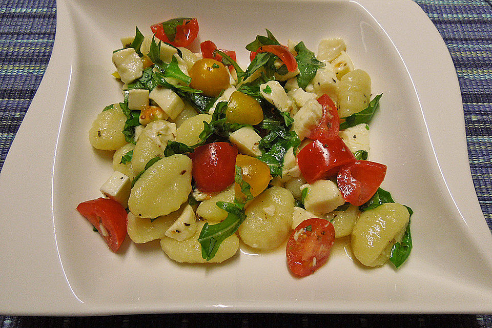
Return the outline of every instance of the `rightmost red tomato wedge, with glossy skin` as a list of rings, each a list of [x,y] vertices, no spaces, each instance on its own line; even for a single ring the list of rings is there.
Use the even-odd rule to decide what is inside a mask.
[[[368,160],[358,160],[340,168],[338,189],[352,205],[361,206],[371,199],[386,175],[386,166]]]

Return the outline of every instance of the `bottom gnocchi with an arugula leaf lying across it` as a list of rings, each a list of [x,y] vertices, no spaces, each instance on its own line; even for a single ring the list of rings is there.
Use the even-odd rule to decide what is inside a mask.
[[[177,241],[173,238],[163,237],[160,240],[160,247],[169,258],[181,263],[221,263],[234,256],[239,249],[239,238],[237,238],[236,234],[227,237],[220,243],[217,254],[215,254],[213,259],[206,261],[202,258],[198,237],[205,223],[205,221],[197,222],[196,233],[187,240]]]

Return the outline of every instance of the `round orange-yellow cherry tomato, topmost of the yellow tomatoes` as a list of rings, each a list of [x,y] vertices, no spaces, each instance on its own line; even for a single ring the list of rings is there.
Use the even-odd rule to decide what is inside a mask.
[[[209,97],[216,97],[229,87],[229,73],[227,68],[212,58],[197,60],[189,71],[190,87],[203,91]]]

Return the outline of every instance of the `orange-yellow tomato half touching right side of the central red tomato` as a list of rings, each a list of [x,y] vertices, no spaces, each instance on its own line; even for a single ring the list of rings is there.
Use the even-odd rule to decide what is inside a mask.
[[[250,191],[253,197],[258,196],[263,190],[267,189],[268,183],[272,179],[268,165],[258,158],[242,154],[237,155],[236,165],[242,170],[242,179],[250,184]],[[238,183],[234,184],[234,192],[237,199],[245,198]]]

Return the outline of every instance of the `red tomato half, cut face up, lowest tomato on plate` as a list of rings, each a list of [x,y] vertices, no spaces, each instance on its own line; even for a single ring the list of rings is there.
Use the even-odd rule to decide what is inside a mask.
[[[298,276],[309,276],[326,263],[334,242],[332,222],[319,218],[302,221],[287,241],[289,269]]]

